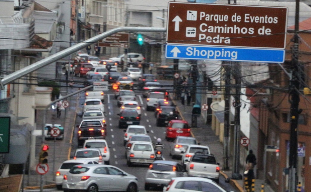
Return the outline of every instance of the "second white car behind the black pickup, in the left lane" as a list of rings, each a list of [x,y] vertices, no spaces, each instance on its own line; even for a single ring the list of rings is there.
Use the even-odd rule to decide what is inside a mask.
[[[96,148],[76,149],[73,159],[94,160],[94,161],[97,161],[98,164],[104,164],[103,155],[101,154],[100,150]]]

